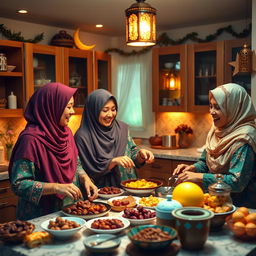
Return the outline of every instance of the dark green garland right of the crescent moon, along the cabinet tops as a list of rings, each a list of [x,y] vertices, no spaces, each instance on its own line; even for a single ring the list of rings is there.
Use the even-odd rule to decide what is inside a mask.
[[[208,35],[204,39],[199,38],[198,33],[192,32],[192,33],[189,33],[186,36],[184,36],[183,38],[180,38],[178,40],[173,40],[166,33],[162,33],[158,37],[156,45],[158,45],[158,46],[178,45],[178,44],[184,44],[188,40],[192,40],[192,41],[197,42],[197,43],[211,42],[211,41],[215,40],[218,36],[220,36],[224,32],[227,32],[227,33],[231,34],[232,36],[234,36],[236,38],[245,38],[245,37],[247,37],[251,34],[251,30],[252,30],[252,26],[250,24],[248,29],[245,28],[241,33],[236,33],[233,30],[232,26],[229,25],[227,27],[217,29],[217,31],[214,34]],[[118,49],[118,48],[108,48],[107,50],[105,50],[105,52],[106,53],[116,52],[116,53],[118,53],[120,55],[123,55],[123,56],[134,56],[134,55],[144,54],[144,53],[148,52],[152,47],[153,46],[149,46],[149,47],[145,47],[145,48],[143,48],[139,51],[133,50],[131,52],[125,52],[125,51],[123,51],[121,49]]]

